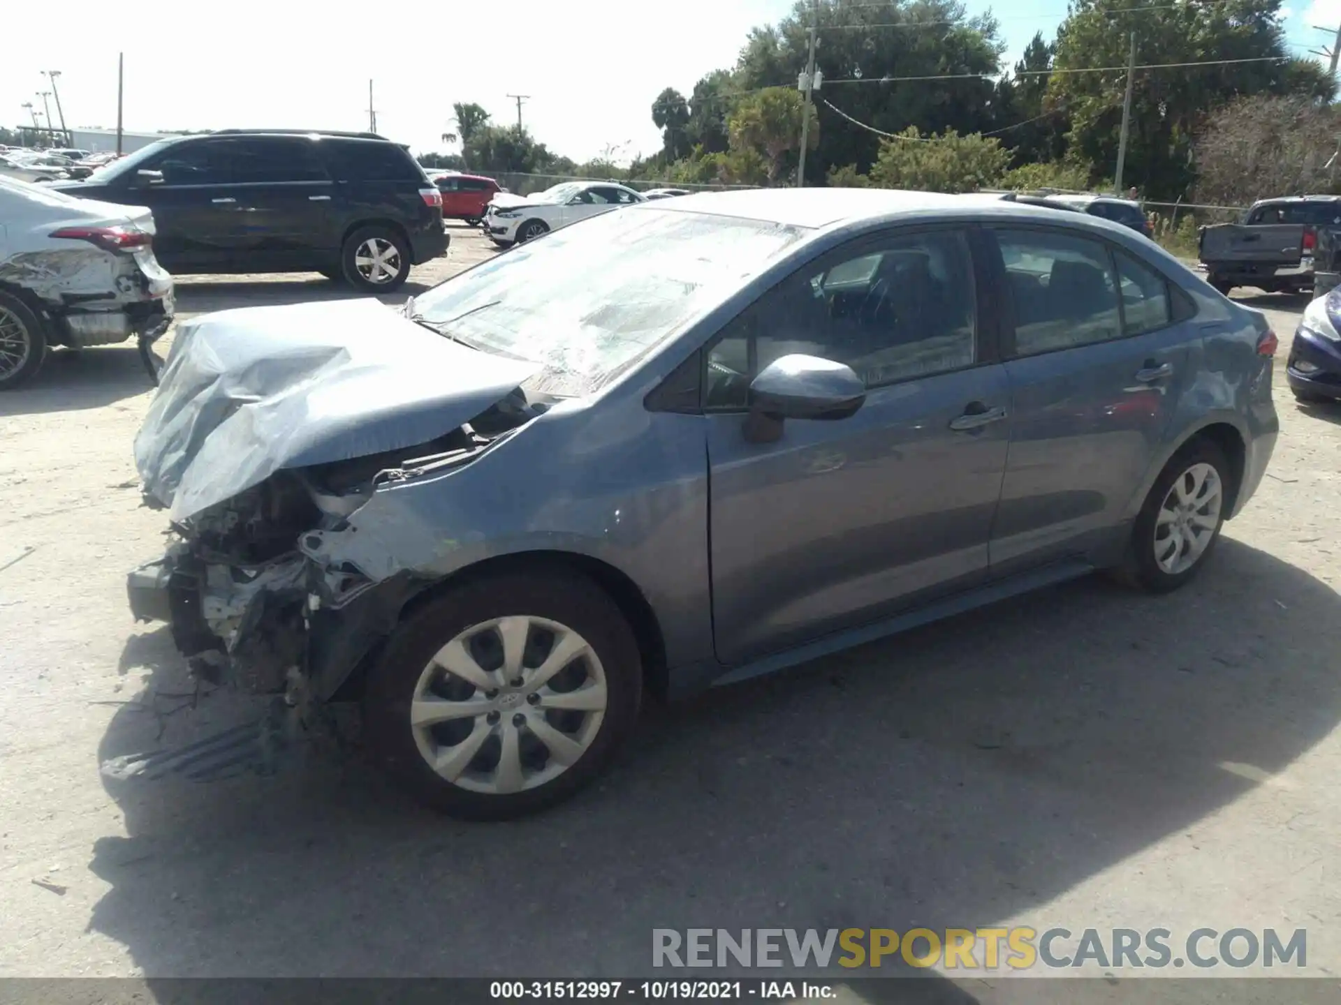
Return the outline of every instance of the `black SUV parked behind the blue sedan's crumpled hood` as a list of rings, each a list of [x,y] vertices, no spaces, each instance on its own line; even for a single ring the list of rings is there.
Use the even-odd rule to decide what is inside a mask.
[[[375,292],[447,251],[443,197],[375,133],[229,129],[160,139],[51,188],[149,206],[170,272],[322,272]]]

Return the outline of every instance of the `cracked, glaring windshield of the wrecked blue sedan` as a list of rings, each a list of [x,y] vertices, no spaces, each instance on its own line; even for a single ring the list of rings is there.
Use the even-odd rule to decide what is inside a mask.
[[[485,352],[540,363],[528,387],[598,390],[806,230],[630,208],[574,224],[449,279],[413,315]]]

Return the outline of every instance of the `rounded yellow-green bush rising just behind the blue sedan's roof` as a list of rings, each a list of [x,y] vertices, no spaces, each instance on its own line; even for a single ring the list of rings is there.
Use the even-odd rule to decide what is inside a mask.
[[[975,192],[1000,182],[1010,151],[995,137],[961,137],[953,130],[921,137],[909,126],[880,142],[870,181],[882,189]]]

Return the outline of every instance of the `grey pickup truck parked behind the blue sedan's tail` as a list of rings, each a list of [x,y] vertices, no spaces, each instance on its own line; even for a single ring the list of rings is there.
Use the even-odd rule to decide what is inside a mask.
[[[1341,197],[1295,196],[1254,202],[1239,224],[1203,226],[1198,257],[1222,293],[1257,287],[1269,293],[1313,288],[1320,229],[1341,228]]]

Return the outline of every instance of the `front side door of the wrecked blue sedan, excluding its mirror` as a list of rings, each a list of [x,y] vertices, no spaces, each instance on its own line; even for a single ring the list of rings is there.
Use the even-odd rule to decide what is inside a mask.
[[[979,582],[1008,442],[968,234],[892,232],[766,293],[709,346],[705,406],[717,658],[740,663]],[[984,312],[983,312],[984,314]],[[752,375],[846,363],[856,415],[743,434]]]

